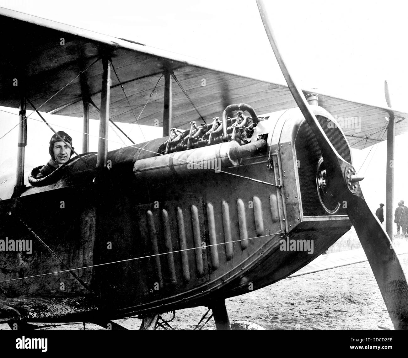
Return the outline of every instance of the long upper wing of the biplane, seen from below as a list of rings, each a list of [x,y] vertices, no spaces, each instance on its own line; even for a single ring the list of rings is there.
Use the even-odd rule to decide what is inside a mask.
[[[211,69],[194,58],[9,9],[0,8],[0,18],[2,106],[18,107],[19,89],[24,87],[27,97],[40,110],[82,117],[82,97],[100,103],[102,64],[98,59],[104,52],[110,53],[131,104],[129,108],[112,71],[110,117],[116,122],[134,123],[142,112],[139,124],[162,123],[164,81],[157,85],[153,96],[151,93],[164,67],[175,73],[207,123],[232,103],[250,104],[259,114],[296,106],[287,86]],[[200,120],[174,82],[172,103],[173,126],[186,128],[192,120]],[[396,122],[408,117],[407,113],[390,108],[324,94],[319,94],[319,105],[344,124],[342,129],[353,148],[364,148],[384,139],[385,117],[391,111]],[[99,117],[95,110],[90,115]],[[408,121],[396,124],[396,135],[407,131]]]

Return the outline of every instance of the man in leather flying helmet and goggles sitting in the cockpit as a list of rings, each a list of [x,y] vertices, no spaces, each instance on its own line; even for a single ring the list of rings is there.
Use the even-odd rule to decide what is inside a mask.
[[[66,141],[69,145],[65,144],[62,140]],[[71,158],[73,149],[72,138],[67,133],[60,130],[57,132],[57,134],[54,134],[51,137],[48,148],[51,159],[40,169],[36,179],[40,179],[51,174],[55,169],[67,163],[67,161],[69,161]]]

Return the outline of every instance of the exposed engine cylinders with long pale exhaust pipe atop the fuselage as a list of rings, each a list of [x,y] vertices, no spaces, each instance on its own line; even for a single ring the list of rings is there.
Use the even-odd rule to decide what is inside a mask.
[[[227,114],[237,110],[237,116]],[[245,117],[248,111],[252,117]],[[266,146],[260,139],[249,143],[257,123],[262,121],[248,104],[231,104],[222,114],[222,122],[214,118],[213,124],[200,127],[191,122],[189,131],[172,128],[172,134],[164,142],[157,157],[137,160],[133,172],[139,179],[163,178],[171,175],[192,174],[191,169],[210,169],[219,172],[221,168],[238,166],[241,159],[250,157]]]

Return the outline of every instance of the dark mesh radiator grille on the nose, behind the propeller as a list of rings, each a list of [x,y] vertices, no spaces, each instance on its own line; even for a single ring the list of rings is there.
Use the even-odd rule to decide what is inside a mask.
[[[329,119],[320,115],[317,115],[316,117],[322,126],[324,133],[326,133],[326,136],[330,140],[331,144],[336,148],[339,155],[351,163],[350,150],[348,148],[346,139],[341,134],[339,128],[334,128],[331,125],[331,128],[329,128]],[[329,215],[319,201],[316,188],[317,162],[322,156],[322,153],[320,152],[316,137],[306,121],[303,122],[299,128],[299,132],[297,133],[295,149],[297,160],[299,161],[298,172],[303,215]],[[340,206],[340,209],[335,215],[346,214],[346,210]]]

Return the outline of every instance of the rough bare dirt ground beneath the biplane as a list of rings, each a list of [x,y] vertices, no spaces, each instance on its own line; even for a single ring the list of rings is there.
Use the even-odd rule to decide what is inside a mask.
[[[408,254],[400,255],[399,259],[408,273]],[[265,329],[393,329],[368,262],[286,278],[229,298],[226,308],[231,323],[245,320]],[[193,329],[206,311],[206,307],[177,311],[169,324],[174,329]],[[169,320],[172,314],[162,317]],[[115,322],[138,329],[141,320],[126,318]],[[6,325],[0,326],[0,329],[9,329]],[[85,327],[102,329],[89,323]],[[43,329],[83,329],[83,324]],[[215,329],[214,320],[204,329]]]

